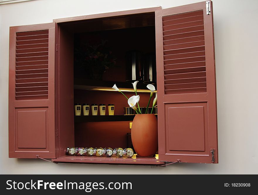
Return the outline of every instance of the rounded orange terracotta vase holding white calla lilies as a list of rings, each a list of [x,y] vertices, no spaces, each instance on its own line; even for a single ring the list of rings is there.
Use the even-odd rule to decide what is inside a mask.
[[[158,150],[158,121],[155,114],[136,114],[131,130],[135,152],[143,157]]]

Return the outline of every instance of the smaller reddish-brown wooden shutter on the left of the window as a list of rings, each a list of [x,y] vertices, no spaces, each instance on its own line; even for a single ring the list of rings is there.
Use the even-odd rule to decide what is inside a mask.
[[[9,157],[55,158],[55,23],[10,27]]]

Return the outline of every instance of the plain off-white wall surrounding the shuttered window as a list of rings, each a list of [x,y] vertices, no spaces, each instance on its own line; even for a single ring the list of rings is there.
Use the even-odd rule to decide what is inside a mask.
[[[214,0],[219,164],[167,167],[53,164],[8,158],[9,26],[49,23],[55,18],[162,6],[200,0],[35,0],[0,5],[1,174],[258,174],[258,1]]]

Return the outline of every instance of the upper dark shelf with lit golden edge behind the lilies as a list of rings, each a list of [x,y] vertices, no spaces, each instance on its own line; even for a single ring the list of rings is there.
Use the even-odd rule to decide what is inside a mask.
[[[112,91],[113,85],[121,89],[121,91],[130,90],[133,91],[132,82],[117,82],[117,81],[102,81],[102,80],[92,80],[92,79],[84,79],[84,78],[74,78],[74,89],[85,89],[85,90],[109,90]],[[147,84],[138,83],[137,89],[140,92],[150,92],[147,89]],[[157,89],[157,85],[154,84]]]

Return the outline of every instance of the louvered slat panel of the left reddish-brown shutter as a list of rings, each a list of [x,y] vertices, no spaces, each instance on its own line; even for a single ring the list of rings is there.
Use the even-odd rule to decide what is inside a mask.
[[[48,30],[16,33],[16,100],[48,98]]]

